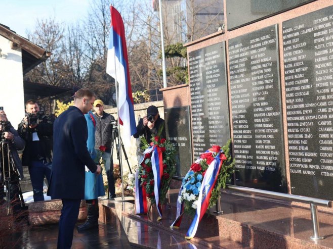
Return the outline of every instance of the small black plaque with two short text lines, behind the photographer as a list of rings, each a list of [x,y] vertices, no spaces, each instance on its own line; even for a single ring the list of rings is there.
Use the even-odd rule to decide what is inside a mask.
[[[166,138],[176,146],[176,176],[185,176],[192,165],[190,107],[164,109]]]

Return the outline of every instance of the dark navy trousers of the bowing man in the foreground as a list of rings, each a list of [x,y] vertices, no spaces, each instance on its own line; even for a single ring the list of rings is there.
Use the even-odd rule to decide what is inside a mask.
[[[70,249],[81,200],[61,199],[61,201],[62,210],[59,220],[58,249]]]

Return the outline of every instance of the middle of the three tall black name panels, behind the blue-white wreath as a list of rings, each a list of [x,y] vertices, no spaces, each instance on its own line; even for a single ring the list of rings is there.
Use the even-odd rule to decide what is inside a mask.
[[[229,40],[236,185],[286,192],[277,25]]]

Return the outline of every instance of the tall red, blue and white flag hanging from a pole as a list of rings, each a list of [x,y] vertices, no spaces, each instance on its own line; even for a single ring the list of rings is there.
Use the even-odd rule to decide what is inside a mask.
[[[122,139],[129,144],[131,136],[137,132],[132,87],[130,80],[129,61],[125,40],[125,30],[119,12],[110,7],[111,28],[107,53],[106,73],[118,82],[118,116],[119,124],[123,126]]]

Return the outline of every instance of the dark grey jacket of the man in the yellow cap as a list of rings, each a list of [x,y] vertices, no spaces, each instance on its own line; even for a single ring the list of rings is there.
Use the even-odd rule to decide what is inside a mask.
[[[106,152],[111,152],[111,136],[112,136],[112,121],[114,117],[111,114],[103,112],[103,116],[96,117],[96,131],[95,131],[95,148],[98,150],[99,146],[106,146]]]

